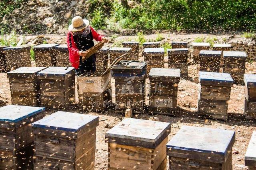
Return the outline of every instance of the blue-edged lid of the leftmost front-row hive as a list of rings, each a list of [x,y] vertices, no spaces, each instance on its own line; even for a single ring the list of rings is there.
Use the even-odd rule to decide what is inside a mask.
[[[17,123],[42,111],[44,107],[7,105],[0,107],[0,121]]]

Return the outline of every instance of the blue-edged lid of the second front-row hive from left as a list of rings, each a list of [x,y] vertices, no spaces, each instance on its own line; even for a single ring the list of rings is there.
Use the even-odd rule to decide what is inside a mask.
[[[98,121],[98,118],[98,116],[93,115],[57,111],[32,123],[32,127],[76,132],[84,126],[90,125],[94,121]]]

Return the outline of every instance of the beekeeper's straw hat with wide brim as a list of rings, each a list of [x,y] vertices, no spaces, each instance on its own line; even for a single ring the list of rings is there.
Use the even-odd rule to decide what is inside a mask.
[[[68,30],[72,32],[76,32],[86,28],[90,24],[90,21],[83,20],[82,17],[76,16],[72,19],[71,23],[72,24],[69,25]]]

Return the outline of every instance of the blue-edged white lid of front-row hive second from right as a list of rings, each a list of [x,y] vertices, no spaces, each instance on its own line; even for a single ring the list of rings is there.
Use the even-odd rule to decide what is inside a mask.
[[[225,155],[234,141],[235,131],[182,126],[166,147],[168,149]]]

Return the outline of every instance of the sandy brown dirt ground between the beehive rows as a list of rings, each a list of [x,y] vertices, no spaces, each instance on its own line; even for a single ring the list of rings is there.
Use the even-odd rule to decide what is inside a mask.
[[[189,66],[188,72],[190,76],[197,75],[198,68],[196,65],[191,65]],[[246,73],[256,73],[256,62],[246,63]],[[10,87],[7,75],[5,73],[0,73],[0,80],[0,104],[11,104]],[[146,92],[148,92],[148,90],[146,90]],[[183,125],[236,131],[236,141],[234,143],[232,154],[233,169],[248,169],[248,167],[244,166],[244,155],[250,141],[252,131],[256,131],[256,121],[247,121],[243,116],[244,86],[234,85],[231,89],[231,98],[228,106],[228,113],[230,116],[228,121],[219,121],[214,119],[208,120],[199,117],[196,112],[197,102],[198,84],[193,82],[192,78],[181,79],[178,85],[179,113],[177,113],[175,117],[168,115],[154,115],[158,117],[160,121],[171,123],[171,133],[168,136],[168,141]],[[77,112],[76,110],[72,111]],[[112,112],[85,112],[85,114],[97,115],[100,117],[96,133],[95,169],[106,170],[108,165],[108,145],[105,143],[105,133],[114,125],[119,123],[124,115]],[[138,119],[148,119],[149,117],[152,117],[152,115],[145,113],[134,115],[134,117]]]

